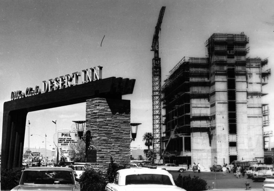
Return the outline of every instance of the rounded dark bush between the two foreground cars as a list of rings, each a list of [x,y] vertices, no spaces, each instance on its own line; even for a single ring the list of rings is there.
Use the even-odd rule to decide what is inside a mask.
[[[96,172],[93,168],[87,169],[79,178],[82,191],[98,190],[104,191],[107,182],[102,173]]]

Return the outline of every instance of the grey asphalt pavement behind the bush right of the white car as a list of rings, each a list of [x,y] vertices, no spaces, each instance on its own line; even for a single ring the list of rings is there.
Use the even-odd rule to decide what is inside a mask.
[[[198,176],[201,179],[206,180],[207,186],[211,186],[213,189],[216,187],[216,189],[222,189],[222,188],[243,188],[246,189],[245,183],[248,182],[251,186],[251,190],[254,189],[260,189],[263,190],[263,181],[254,182],[251,178],[247,178],[247,175],[245,175],[244,178],[236,178],[234,176],[234,173],[226,173],[226,175],[223,175],[223,172],[216,172],[216,180],[215,180],[215,172],[201,172],[201,173],[194,173],[193,171],[184,171],[183,173],[179,172],[172,172],[169,171],[169,173],[172,174],[173,178],[176,180],[179,174],[182,176],[188,176],[191,177]]]

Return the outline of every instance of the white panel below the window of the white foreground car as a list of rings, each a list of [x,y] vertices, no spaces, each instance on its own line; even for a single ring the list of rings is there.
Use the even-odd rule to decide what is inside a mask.
[[[135,184],[135,185],[126,185],[126,186],[121,186],[124,188],[124,190],[130,190],[130,191],[167,191],[167,190],[172,190],[172,191],[176,191],[176,190],[180,190],[183,191],[184,189],[177,187],[177,186],[173,186],[173,185],[155,185],[155,184]],[[120,190],[120,189],[118,189]],[[186,190],[185,190],[186,191]]]

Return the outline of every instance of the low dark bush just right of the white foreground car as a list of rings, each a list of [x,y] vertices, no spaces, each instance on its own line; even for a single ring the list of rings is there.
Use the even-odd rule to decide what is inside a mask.
[[[176,186],[184,188],[187,191],[195,190],[206,190],[207,182],[204,179],[199,178],[199,176],[194,176],[193,178],[188,176],[181,176],[179,174],[178,178],[174,180]]]

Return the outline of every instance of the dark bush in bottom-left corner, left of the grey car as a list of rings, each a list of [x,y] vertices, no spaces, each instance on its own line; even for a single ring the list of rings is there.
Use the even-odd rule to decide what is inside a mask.
[[[10,170],[1,168],[1,190],[11,190],[19,185],[22,168],[14,168]]]

